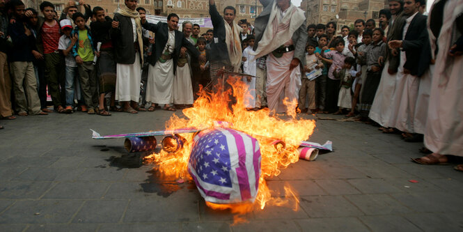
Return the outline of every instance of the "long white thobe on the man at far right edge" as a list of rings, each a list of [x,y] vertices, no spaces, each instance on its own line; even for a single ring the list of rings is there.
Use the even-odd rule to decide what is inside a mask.
[[[458,8],[462,9],[458,1],[446,1],[444,6],[427,111],[425,146],[434,153],[463,156],[463,56],[448,56],[456,31]]]

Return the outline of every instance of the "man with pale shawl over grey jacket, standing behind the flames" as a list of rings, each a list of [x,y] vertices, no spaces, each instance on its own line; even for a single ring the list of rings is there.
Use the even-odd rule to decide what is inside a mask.
[[[253,55],[267,56],[267,105],[275,113],[295,111],[307,42],[304,11],[290,0],[260,0]],[[283,105],[283,100],[292,102]]]

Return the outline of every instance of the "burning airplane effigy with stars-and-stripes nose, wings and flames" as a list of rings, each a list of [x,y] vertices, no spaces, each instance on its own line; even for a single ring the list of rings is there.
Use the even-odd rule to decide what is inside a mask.
[[[163,131],[104,137],[93,132],[93,138],[126,138],[127,150],[133,151],[156,140],[130,138],[168,135],[162,139],[162,150],[146,156],[144,162],[155,164],[164,178],[194,181],[211,208],[247,212],[285,203],[272,198],[265,179],[278,176],[299,159],[315,160],[318,149],[331,150],[331,142],[306,141],[315,121],[298,118],[294,110],[288,110],[285,118],[273,116],[268,109],[246,110],[246,84],[241,79],[241,74],[225,72],[214,91],[200,91],[194,106],[183,109],[185,117],[173,114]],[[297,102],[285,100],[285,105],[294,109]],[[298,202],[291,187],[285,187],[285,196]]]

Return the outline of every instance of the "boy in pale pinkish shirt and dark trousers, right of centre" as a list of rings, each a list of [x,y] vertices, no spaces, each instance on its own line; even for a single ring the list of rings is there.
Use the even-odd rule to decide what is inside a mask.
[[[324,52],[318,56],[318,59],[322,59],[327,63],[331,63],[331,67],[328,70],[327,78],[327,100],[325,102],[325,110],[329,113],[335,112],[338,109],[338,94],[339,94],[339,85],[340,79],[334,77],[333,72],[339,72],[344,66],[345,55],[343,54],[344,50],[344,40],[342,38],[337,39],[334,42],[335,49],[330,52]]]

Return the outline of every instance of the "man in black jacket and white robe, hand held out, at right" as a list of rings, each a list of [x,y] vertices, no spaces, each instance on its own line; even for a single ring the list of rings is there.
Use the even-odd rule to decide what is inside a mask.
[[[418,97],[420,79],[418,75],[418,57],[422,54],[425,41],[428,40],[426,16],[418,12],[424,0],[406,0],[404,14],[407,19],[402,27],[402,40],[389,41],[391,49],[400,48],[400,65],[396,77],[395,91],[402,93],[402,98],[392,102],[395,114],[395,127],[407,132],[404,137],[412,137],[414,129],[414,111]]]

